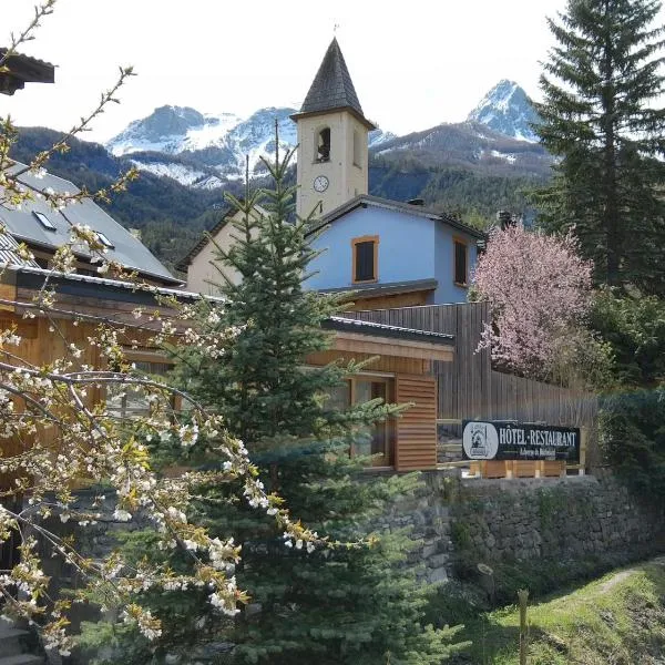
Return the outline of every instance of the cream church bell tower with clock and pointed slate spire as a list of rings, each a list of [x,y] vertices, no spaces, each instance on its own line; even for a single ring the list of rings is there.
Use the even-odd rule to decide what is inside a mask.
[[[298,126],[297,212],[319,217],[368,192],[368,134],[344,55],[332,39],[305,98],[291,119]]]

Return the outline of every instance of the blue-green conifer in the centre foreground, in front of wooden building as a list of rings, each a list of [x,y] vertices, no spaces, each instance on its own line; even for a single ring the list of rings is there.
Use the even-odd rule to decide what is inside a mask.
[[[235,328],[235,338],[218,340],[215,362],[195,347],[172,351],[181,385],[244,440],[267,491],[278,491],[305,524],[337,544],[307,551],[234,502],[233,484],[202,488],[196,519],[213,533],[229,529],[242,544],[237,577],[253,604],[216,624],[209,611],[202,620],[201,607],[185,620],[181,613],[176,630],[188,621],[193,642],[214,634],[234,644],[225,661],[234,664],[439,664],[456,649],[456,631],[422,625],[434,589],[406,565],[415,543],[402,532],[377,535],[372,525],[418,480],[372,480],[362,473],[369,460],[349,457],[354,441],[398,409],[380,400],[334,408],[327,396],[361,365],[306,367],[310,354],[329,348],[321,325],[339,305],[304,287],[315,250],[305,237],[308,221],[294,219],[295,187],[283,185],[289,158],[268,165],[274,191],[229,197],[242,221],[218,259],[242,280],[221,272],[223,301],[202,303],[194,328],[212,344],[217,329]]]

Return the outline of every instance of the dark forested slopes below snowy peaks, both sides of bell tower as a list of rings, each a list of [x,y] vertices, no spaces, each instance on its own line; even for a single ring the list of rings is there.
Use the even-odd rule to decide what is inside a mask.
[[[23,129],[12,156],[28,162],[58,137],[52,130]],[[505,141],[518,143],[510,139]],[[524,150],[538,154],[540,161],[538,151],[542,152],[542,149],[524,144]],[[437,161],[436,150],[413,151],[403,143],[398,150],[380,152],[370,156],[371,194],[395,201],[422,197],[427,205],[481,227],[502,208],[531,215],[523,192],[545,180],[542,165],[532,174],[526,170],[525,175],[523,168],[512,167],[499,158],[494,166],[491,158],[475,167],[459,161],[447,165],[441,156]],[[114,157],[98,143],[73,140],[68,153],[53,156],[49,170],[76,186],[94,191],[110,184],[131,165],[127,158]],[[101,205],[127,228],[139,229],[147,247],[173,268],[198,241],[201,233],[218,221],[225,208],[224,192],[239,194],[242,183],[229,181],[225,187],[216,190],[194,188],[171,177],[142,171],[126,193]]]

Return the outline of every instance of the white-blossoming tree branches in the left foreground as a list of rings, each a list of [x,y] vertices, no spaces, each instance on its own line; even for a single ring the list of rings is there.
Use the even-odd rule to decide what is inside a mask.
[[[33,38],[54,4],[55,0],[45,0],[35,7],[30,24],[18,35],[12,34],[9,48],[0,58],[0,72],[11,71],[11,58],[21,44]],[[121,69],[117,82],[102,95],[98,108],[24,167],[11,160],[16,127],[9,117],[0,119],[0,209],[20,208],[38,196],[54,207],[66,208],[85,197],[105,201],[126,187],[136,175],[134,171],[123,174],[106,190],[71,195],[35,192],[21,184],[20,175],[25,172],[37,177],[42,175],[50,156],[65,152],[68,141],[88,129],[116,101],[119,89],[132,73],[131,68]],[[0,228],[0,233],[10,237],[4,228]],[[276,495],[266,493],[244,443],[225,431],[218,416],[184,392],[137,370],[127,359],[127,339],[142,336],[154,346],[166,338],[173,341],[187,335],[182,320],[190,314],[186,307],[177,315],[180,321],[142,310],[134,313],[133,323],[83,313],[63,314],[53,282],[74,272],[74,246],[82,244],[99,264],[100,274],[132,280],[135,289],[153,293],[158,298],[155,287],[141,283],[109,259],[106,247],[93,231],[72,224],[70,242],[55,252],[50,268],[42,273],[43,284],[31,301],[2,301],[6,309],[20,305],[25,318],[45,319],[49,332],[65,342],[61,357],[38,365],[23,352],[25,340],[17,325],[0,330],[0,546],[18,539],[21,553],[18,563],[0,571],[1,611],[31,620],[41,631],[45,645],[61,653],[68,653],[71,647],[66,610],[72,600],[49,596],[49,577],[39,555],[44,546],[86,582],[86,586],[74,593],[74,601],[90,595],[103,598],[103,605],[119,607],[126,622],[135,623],[149,638],[156,638],[161,624],[157,616],[137,604],[141,590],[152,587],[177,593],[198,587],[205,590],[214,607],[229,615],[234,615],[237,604],[246,598],[233,574],[241,549],[232,538],[212,538],[206,529],[187,520],[188,502],[201,483],[239,481],[244,500],[270,515],[284,531],[286,542],[306,543],[308,550],[323,542],[291,520]],[[17,245],[14,249],[22,259],[32,259],[28,247]],[[85,344],[69,341],[64,320],[92,330]],[[234,334],[234,330],[218,332],[228,338]],[[83,361],[84,347],[99,351],[99,366]],[[208,351],[208,347],[201,348],[203,355]],[[103,397],[94,397],[104,396],[112,386],[142,393],[151,405],[150,415],[132,421],[117,418]],[[174,396],[188,407],[185,419],[172,408]],[[44,434],[47,430],[49,436]],[[165,478],[155,472],[151,463],[145,442],[153,438],[185,449],[205,441],[223,463],[214,472],[190,471]],[[92,560],[82,555],[72,541],[49,529],[47,520],[53,516],[62,522],[78,522],[81,528],[100,519],[98,511],[79,508],[75,490],[82,479],[108,487],[106,493],[115,498],[115,520],[130,521],[141,513],[142,520],[153,523],[158,534],[157,546],[183,549],[193,564],[187,573],[147,563],[130,564],[119,552],[101,561]],[[98,501],[101,502],[102,497]]]

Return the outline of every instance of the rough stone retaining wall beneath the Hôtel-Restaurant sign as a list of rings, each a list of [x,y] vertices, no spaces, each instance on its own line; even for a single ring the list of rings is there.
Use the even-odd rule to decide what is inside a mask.
[[[423,473],[381,528],[409,526],[422,545],[412,557],[430,582],[467,564],[556,560],[633,561],[662,552],[665,519],[640,503],[608,473],[548,479],[462,479],[458,471]]]

